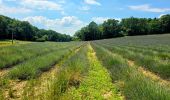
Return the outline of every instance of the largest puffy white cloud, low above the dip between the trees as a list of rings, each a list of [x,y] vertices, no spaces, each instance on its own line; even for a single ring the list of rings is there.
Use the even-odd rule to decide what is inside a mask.
[[[66,16],[61,19],[48,19],[43,16],[34,16],[26,17],[23,20],[29,21],[33,25],[42,25],[45,29],[52,29],[69,35],[73,35],[78,29],[86,25],[86,23],[75,16]]]

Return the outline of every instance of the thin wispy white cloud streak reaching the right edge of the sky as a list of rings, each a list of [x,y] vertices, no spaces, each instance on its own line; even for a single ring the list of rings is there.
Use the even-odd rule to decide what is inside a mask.
[[[137,6],[128,6],[128,7],[132,10],[155,12],[155,13],[170,11],[170,8],[154,8],[154,7],[151,7],[149,4],[137,5]]]

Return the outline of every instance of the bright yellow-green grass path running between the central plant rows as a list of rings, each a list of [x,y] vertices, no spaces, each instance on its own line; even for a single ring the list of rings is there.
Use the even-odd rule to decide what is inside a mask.
[[[95,51],[88,45],[90,68],[78,89],[72,88],[66,95],[73,100],[122,100],[123,96],[116,90],[110,74],[96,57]]]

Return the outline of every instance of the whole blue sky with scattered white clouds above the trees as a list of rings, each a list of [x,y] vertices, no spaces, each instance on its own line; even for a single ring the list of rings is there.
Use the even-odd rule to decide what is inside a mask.
[[[170,14],[170,0],[0,0],[0,15],[68,35],[91,21],[165,14]]]

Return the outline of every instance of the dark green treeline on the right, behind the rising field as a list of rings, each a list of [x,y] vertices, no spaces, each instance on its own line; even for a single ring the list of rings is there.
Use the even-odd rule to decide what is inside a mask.
[[[160,18],[125,18],[121,21],[108,19],[103,24],[91,22],[77,31],[74,37],[83,41],[107,39],[122,36],[170,33],[170,15]]]

